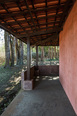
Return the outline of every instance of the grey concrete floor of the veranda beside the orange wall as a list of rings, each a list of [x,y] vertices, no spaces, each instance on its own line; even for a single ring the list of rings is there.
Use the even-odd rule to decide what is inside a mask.
[[[21,90],[1,116],[76,116],[76,114],[58,77],[41,77],[34,90]]]

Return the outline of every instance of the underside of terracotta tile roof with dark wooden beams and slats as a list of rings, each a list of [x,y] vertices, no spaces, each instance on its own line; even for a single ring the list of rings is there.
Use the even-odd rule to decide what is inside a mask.
[[[62,30],[63,24],[76,0],[0,0],[0,27],[31,45],[54,44],[56,40],[43,41]],[[68,12],[67,12],[68,11]]]

